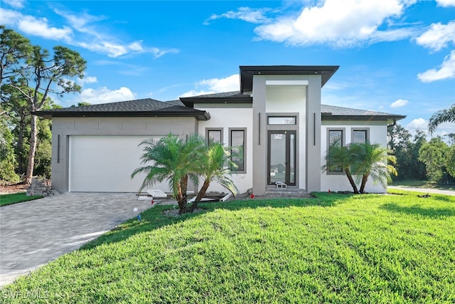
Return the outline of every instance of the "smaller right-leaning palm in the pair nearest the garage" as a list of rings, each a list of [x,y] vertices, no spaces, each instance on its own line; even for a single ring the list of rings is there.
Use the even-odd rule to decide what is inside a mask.
[[[205,196],[211,182],[218,182],[221,186],[228,189],[232,194],[237,194],[237,187],[230,175],[230,168],[237,167],[230,159],[230,152],[220,142],[209,142],[205,151],[204,161],[200,162],[198,174],[200,179],[203,180],[203,185],[200,187],[198,195],[196,196],[191,211],[196,209],[198,202]]]

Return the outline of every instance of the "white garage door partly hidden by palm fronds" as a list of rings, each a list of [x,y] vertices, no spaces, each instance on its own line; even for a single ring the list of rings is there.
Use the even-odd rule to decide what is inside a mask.
[[[138,145],[146,138],[71,136],[70,192],[137,192],[144,175],[131,179],[131,174],[142,166],[143,147]],[[168,191],[166,182],[152,188]]]

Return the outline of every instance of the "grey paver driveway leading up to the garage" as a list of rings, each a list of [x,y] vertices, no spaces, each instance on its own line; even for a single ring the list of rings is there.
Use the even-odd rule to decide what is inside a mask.
[[[132,193],[66,193],[1,207],[0,287],[150,207]]]

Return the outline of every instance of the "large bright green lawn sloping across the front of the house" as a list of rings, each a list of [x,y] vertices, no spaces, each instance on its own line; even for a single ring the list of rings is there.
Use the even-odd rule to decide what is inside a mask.
[[[142,213],[5,303],[454,303],[455,196],[316,194]],[[25,296],[24,296],[25,295]]]

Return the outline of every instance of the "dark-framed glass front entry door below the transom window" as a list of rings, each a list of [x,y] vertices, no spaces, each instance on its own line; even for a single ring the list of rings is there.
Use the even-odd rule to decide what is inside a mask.
[[[296,185],[296,131],[269,131],[267,184]]]

